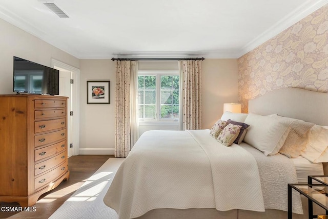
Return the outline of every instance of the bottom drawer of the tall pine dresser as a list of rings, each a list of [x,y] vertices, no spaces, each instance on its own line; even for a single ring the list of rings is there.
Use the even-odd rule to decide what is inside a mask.
[[[39,188],[49,185],[49,183],[53,182],[56,178],[66,173],[67,170],[67,162],[64,162],[57,168],[51,170],[50,172],[36,177],[34,181],[34,189],[37,190]]]

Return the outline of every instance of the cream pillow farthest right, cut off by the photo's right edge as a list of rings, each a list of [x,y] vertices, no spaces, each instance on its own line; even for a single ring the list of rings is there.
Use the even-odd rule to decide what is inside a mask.
[[[313,126],[303,144],[301,156],[313,163],[328,162],[328,127]]]

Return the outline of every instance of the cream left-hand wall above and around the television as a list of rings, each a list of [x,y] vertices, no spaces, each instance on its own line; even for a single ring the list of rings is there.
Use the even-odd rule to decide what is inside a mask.
[[[13,56],[51,67],[51,58],[79,68],[79,59],[0,19],[0,94],[12,94]]]

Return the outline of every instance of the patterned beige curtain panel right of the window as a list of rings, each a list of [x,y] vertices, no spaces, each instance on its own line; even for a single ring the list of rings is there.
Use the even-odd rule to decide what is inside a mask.
[[[179,129],[201,129],[201,61],[179,61]]]

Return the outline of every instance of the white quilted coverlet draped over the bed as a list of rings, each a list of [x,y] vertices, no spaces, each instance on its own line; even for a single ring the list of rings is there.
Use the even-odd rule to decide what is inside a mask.
[[[104,202],[119,218],[158,208],[264,211],[261,181],[250,152],[221,145],[209,130],[148,131],[118,169]]]

